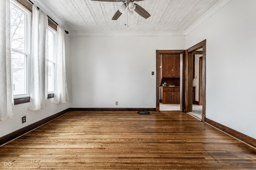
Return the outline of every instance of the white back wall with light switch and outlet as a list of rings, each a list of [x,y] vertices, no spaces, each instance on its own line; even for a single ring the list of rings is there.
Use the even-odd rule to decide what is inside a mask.
[[[185,49],[185,37],[71,37],[70,45],[72,107],[155,108],[156,50]]]

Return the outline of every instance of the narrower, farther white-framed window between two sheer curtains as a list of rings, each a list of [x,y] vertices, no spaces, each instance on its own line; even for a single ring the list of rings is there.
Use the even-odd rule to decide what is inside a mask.
[[[48,93],[54,92],[56,62],[56,31],[48,27]]]

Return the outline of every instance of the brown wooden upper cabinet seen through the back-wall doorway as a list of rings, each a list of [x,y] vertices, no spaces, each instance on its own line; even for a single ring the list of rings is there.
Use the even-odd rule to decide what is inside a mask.
[[[180,54],[162,55],[162,77],[180,77]]]

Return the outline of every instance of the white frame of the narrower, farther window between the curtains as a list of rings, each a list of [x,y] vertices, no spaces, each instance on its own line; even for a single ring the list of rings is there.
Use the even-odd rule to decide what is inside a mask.
[[[54,93],[54,89],[55,89],[55,78],[56,78],[56,48],[57,48],[57,31],[55,29],[53,29],[52,27],[48,26],[48,31],[52,32],[54,37],[53,37],[53,41],[54,41],[54,48],[53,48],[53,60],[47,60],[47,62],[51,62],[51,63],[54,63],[54,67],[52,68],[53,69],[53,75],[54,76],[54,81],[53,81],[53,91],[48,91],[48,94],[52,94]],[[49,73],[48,73],[49,74]],[[48,80],[49,81],[49,80]]]

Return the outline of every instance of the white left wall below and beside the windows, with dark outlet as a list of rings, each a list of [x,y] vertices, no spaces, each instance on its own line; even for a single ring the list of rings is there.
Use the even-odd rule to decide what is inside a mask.
[[[65,35],[65,43],[66,43],[66,72],[67,72],[67,86],[68,92],[70,93],[70,66],[69,66],[69,47],[70,37]],[[32,123],[40,121],[48,116],[54,115],[60,111],[63,111],[70,107],[69,102],[65,104],[53,104],[53,98],[48,99],[47,107],[41,109],[40,111],[29,111],[28,110],[29,103],[18,104],[14,106],[16,114],[12,119],[8,119],[7,121],[0,121],[0,137],[12,133],[22,127],[26,127]],[[22,124],[21,117],[26,115],[26,122]]]

